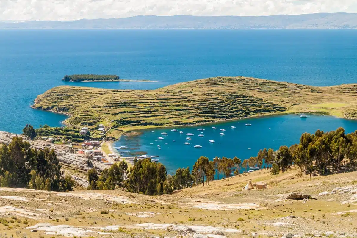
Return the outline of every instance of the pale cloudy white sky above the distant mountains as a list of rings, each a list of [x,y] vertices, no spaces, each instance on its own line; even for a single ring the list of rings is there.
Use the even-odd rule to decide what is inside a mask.
[[[1,21],[355,12],[356,0],[0,0]]]

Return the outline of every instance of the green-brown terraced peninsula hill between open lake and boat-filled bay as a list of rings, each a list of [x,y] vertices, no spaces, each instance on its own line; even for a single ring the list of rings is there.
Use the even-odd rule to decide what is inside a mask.
[[[36,109],[67,113],[68,125],[124,129],[192,125],[277,113],[357,117],[357,84],[315,87],[247,77],[215,77],[156,90],[54,87]]]

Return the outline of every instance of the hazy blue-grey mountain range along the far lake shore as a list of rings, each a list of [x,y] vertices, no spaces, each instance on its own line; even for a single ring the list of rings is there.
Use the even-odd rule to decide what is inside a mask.
[[[0,29],[356,29],[355,13],[275,16],[134,16],[76,21],[0,22]]]

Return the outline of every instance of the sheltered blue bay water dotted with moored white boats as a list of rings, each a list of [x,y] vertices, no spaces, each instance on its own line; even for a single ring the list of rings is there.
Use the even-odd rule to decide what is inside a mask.
[[[252,126],[245,126],[246,123]],[[212,129],[212,126],[216,126],[217,129]],[[236,128],[232,129],[231,126]],[[357,121],[316,115],[309,115],[308,118],[300,118],[298,115],[249,118],[216,125],[175,128],[183,134],[170,131],[173,128],[143,131],[142,135],[131,137],[130,140],[127,136],[122,136],[115,146],[128,146],[125,151],[145,151],[147,155],[158,155],[160,162],[172,173],[179,167],[190,166],[192,168],[200,156],[208,158],[237,156],[243,161],[243,159],[256,156],[257,152],[263,148],[277,150],[282,145],[291,146],[298,143],[302,133],[315,133],[317,129],[331,131],[338,127],[343,127],[346,133],[350,133],[357,130]],[[197,131],[198,128],[203,128],[205,131]],[[226,130],[224,136],[219,134],[221,128]],[[168,135],[161,135],[162,132]],[[190,145],[183,144],[187,141],[186,133],[194,134],[189,136],[192,138],[188,141]],[[199,137],[199,134],[205,136]],[[155,141],[160,136],[164,137],[164,140]],[[208,142],[209,140],[214,140],[215,143]],[[165,143],[169,144],[165,145]],[[161,150],[157,148],[157,145],[161,146]],[[194,148],[195,145],[200,145],[202,148]],[[248,148],[251,149],[248,150]]]

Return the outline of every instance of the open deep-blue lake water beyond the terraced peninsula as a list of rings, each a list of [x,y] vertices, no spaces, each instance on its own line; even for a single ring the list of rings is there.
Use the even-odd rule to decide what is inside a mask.
[[[0,36],[0,130],[15,133],[27,123],[61,125],[65,116],[29,107],[57,85],[152,89],[242,75],[326,86],[357,79],[352,30],[8,30]],[[81,73],[159,82],[61,81]]]

